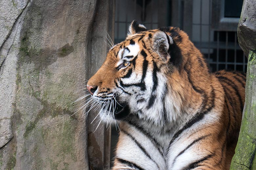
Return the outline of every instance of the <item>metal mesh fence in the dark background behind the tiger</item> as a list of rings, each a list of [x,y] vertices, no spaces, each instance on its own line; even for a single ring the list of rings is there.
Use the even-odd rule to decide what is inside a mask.
[[[246,71],[247,58],[237,42],[235,31],[219,31],[212,28],[213,0],[192,1],[192,31],[190,39],[203,53],[210,71],[238,70]],[[178,10],[179,17],[184,16],[183,1]],[[125,39],[129,24],[136,19],[148,29],[159,28],[171,20],[171,1],[166,0],[167,10],[162,8],[164,1],[157,0],[118,0],[116,1],[115,43]],[[168,10],[169,9],[169,10]],[[164,22],[163,22],[164,21]],[[166,22],[167,21],[167,22]],[[171,23],[172,24],[172,23]],[[168,25],[165,25],[168,26]],[[182,29],[182,24],[181,24]]]

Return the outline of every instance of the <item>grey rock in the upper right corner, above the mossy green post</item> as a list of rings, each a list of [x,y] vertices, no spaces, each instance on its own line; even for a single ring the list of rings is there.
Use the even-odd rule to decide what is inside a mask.
[[[237,29],[238,42],[248,57],[250,50],[256,50],[256,3],[244,0]]]

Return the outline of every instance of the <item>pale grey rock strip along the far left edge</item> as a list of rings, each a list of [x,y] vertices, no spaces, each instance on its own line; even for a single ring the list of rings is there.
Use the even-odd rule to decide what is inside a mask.
[[[20,32],[20,16],[27,5],[28,1],[0,1],[0,148],[13,137],[11,116],[19,51],[15,48],[16,34]]]

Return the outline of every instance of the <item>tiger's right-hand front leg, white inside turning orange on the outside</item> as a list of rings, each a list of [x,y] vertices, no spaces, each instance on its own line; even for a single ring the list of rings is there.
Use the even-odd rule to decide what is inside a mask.
[[[234,149],[236,142],[227,143],[226,133],[211,131],[217,127],[212,124],[196,129],[195,133],[181,133],[180,138],[169,144],[168,169],[228,170],[233,155],[230,149]]]

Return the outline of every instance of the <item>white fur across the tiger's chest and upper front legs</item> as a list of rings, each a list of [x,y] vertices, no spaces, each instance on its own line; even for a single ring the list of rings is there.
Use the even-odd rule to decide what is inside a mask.
[[[157,126],[141,122],[140,125],[143,129],[146,129],[147,132],[161,145],[160,147],[163,149],[164,156],[161,156],[157,147],[151,142],[147,135],[141,133],[133,125],[126,124],[125,130],[146,150],[146,152],[152,157],[153,161],[150,160],[143,151],[141,151],[141,148],[139,148],[138,144],[134,142],[134,139],[122,132],[119,138],[119,145],[117,147],[117,156],[122,157],[122,159],[125,160],[128,159],[129,161],[137,162],[146,170],[150,170],[152,167],[154,167],[153,169],[160,168],[159,170],[182,169],[189,163],[202,159],[207,154],[200,150],[200,144],[195,144],[179,155],[179,153],[181,153],[195,140],[188,136],[198,129],[202,129],[205,125],[213,124],[216,121],[218,121],[218,113],[216,113],[216,110],[208,112],[200,122],[197,122],[190,128],[184,130],[170,148],[169,143],[175,131],[170,131],[168,134],[161,134],[160,129],[158,129]]]

